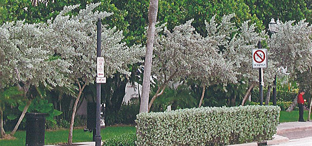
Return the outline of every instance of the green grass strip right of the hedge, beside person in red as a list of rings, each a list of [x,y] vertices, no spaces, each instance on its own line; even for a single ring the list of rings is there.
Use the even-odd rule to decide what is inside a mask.
[[[309,110],[304,110],[303,118],[308,120]],[[279,123],[295,122],[299,119],[299,110],[292,110],[291,112],[281,111],[279,116]]]

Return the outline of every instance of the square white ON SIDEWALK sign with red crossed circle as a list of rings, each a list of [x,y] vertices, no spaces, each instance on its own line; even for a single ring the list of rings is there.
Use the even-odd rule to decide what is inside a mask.
[[[267,68],[267,49],[253,49],[253,68]]]

